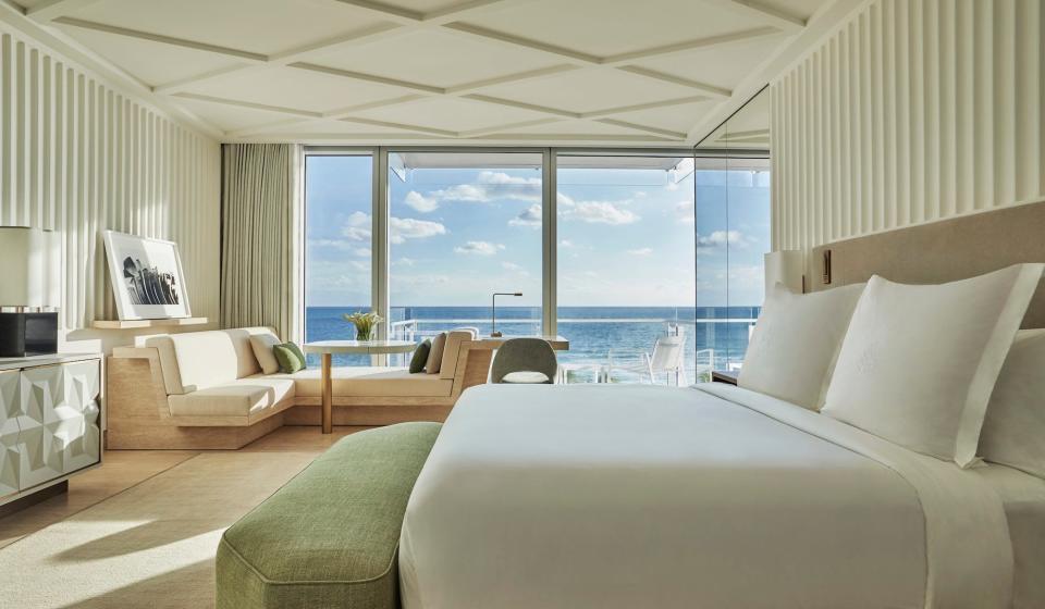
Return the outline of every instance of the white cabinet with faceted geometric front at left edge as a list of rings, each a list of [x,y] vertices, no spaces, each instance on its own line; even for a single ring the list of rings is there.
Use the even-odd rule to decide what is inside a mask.
[[[101,360],[0,372],[0,502],[101,460]]]

